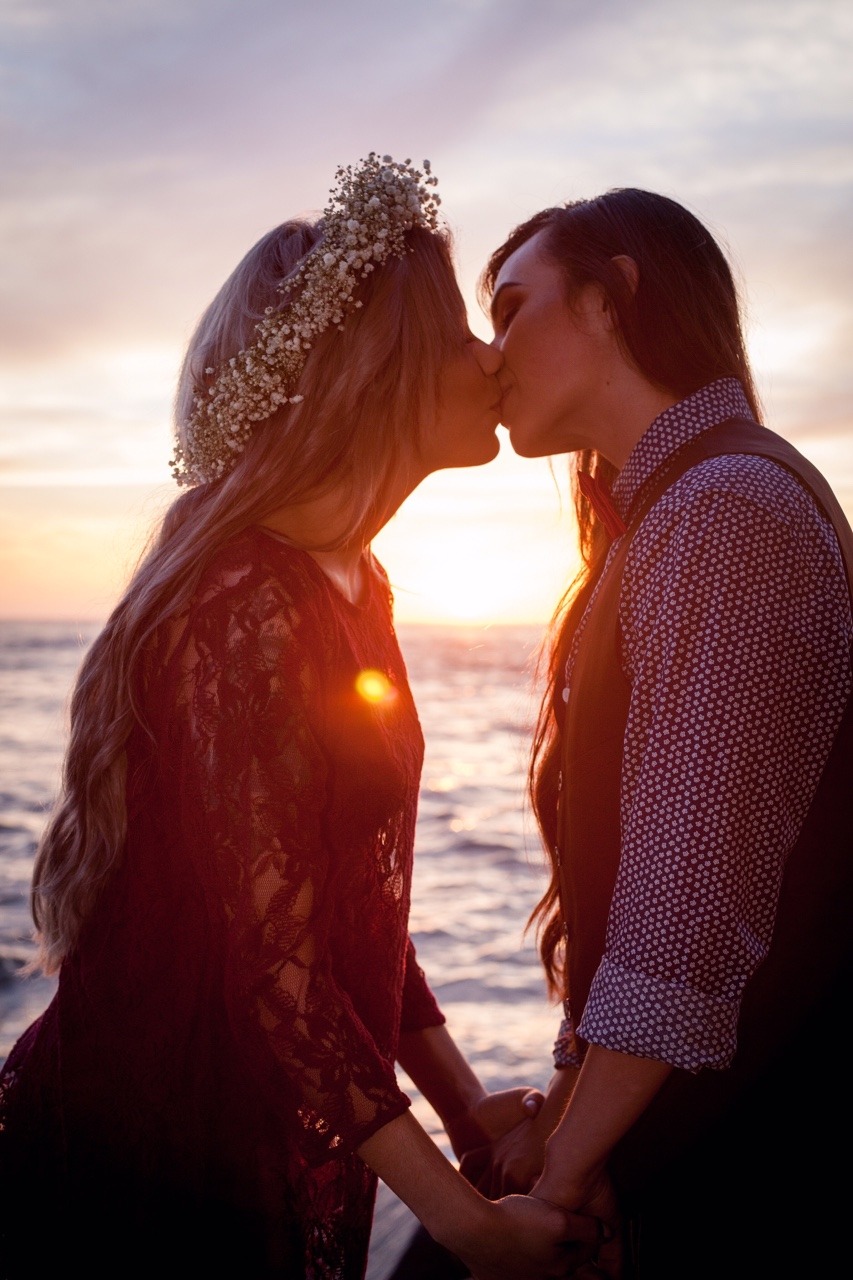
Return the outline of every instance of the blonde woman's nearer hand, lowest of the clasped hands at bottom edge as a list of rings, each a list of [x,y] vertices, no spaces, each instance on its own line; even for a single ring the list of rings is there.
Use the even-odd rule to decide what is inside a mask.
[[[589,1262],[601,1239],[594,1217],[567,1213],[528,1196],[491,1206],[491,1222],[455,1252],[473,1280],[556,1280]]]

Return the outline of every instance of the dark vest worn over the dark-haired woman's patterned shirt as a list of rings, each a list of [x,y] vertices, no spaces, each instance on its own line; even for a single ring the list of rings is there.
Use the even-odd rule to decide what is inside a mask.
[[[766,428],[745,419],[710,428],[642,488],[584,625],[564,724],[561,900],[575,1023],[603,955],[620,858],[619,800],[630,696],[619,628],[625,557],[639,522],[662,493],[697,462],[724,453],[761,454],[798,476],[835,527],[853,599],[853,531],[836,498],[821,474]],[[758,1144],[768,1161],[780,1158],[776,1134],[783,1129],[776,1108],[785,1098],[790,1102],[788,1091],[834,1087],[815,1062],[815,1046],[816,1036],[822,1042],[825,1034],[830,1042],[843,1042],[850,1012],[852,787],[853,700],[786,864],[770,952],[747,984],[735,1060],[724,1071],[672,1073],[615,1151],[613,1172],[629,1194],[642,1193],[661,1170],[678,1167],[688,1152],[713,1167],[715,1146],[721,1160],[725,1151],[729,1169],[733,1148],[752,1151]],[[838,1087],[847,1075],[839,1073]]]

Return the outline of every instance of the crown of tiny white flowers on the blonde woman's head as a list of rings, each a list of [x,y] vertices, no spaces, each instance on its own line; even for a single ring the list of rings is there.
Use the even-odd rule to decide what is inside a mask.
[[[357,283],[387,259],[407,252],[412,227],[438,229],[441,197],[429,160],[414,169],[371,151],[355,168],[338,168],[323,211],[320,241],[280,280],[282,303],[266,307],[254,346],[232,356],[193,407],[170,461],[181,485],[209,484],[228,472],[248,440],[252,424],[270,417],[295,393],[313,340],[362,303]]]

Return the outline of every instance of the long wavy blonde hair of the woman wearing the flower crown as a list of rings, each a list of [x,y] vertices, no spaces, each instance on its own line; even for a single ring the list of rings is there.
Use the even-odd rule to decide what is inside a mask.
[[[216,367],[251,343],[278,282],[321,237],[298,220],[264,236],[202,315],[174,402],[178,435]],[[191,598],[215,552],[273,511],[334,488],[343,531],[377,527],[416,454],[447,358],[467,337],[465,303],[446,232],[414,228],[410,250],[364,282],[362,307],[309,352],[300,392],[259,424],[233,470],[190,489],[167,511],[122,599],[81,666],[70,704],[61,788],[36,851],[32,915],[38,952],[28,966],[55,973],[120,860],[127,831],[126,745],[145,727],[133,680],[146,643]]]

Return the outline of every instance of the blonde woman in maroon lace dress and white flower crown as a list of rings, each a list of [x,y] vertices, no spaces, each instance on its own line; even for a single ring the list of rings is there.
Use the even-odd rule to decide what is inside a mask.
[[[423,741],[370,541],[498,449],[437,204],[429,166],[338,170],[190,343],[187,492],[86,657],[36,860],[59,984],[0,1082],[5,1280],[355,1280],[377,1175],[484,1280],[596,1235],[487,1201],[394,1076],[457,1156],[535,1106],[485,1094],[407,933]]]

